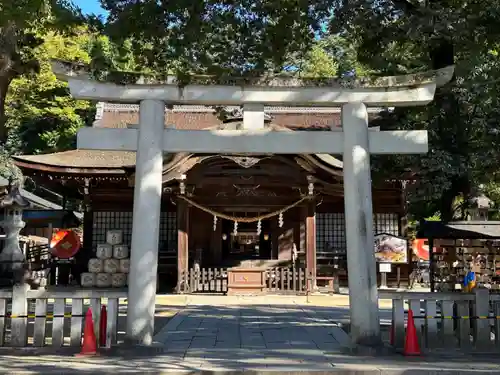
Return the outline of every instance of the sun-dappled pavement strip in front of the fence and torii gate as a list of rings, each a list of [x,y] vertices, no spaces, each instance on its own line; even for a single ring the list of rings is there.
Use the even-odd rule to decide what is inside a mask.
[[[57,355],[47,350],[12,351],[0,349],[0,374],[332,374],[332,375],[500,375],[500,360],[494,357],[453,356],[404,358],[360,357],[331,354],[328,355],[330,368],[321,370],[311,367],[310,363],[290,363],[288,358],[298,354],[297,350],[268,351],[269,357],[255,356],[251,349],[246,350],[248,360],[236,364],[222,359],[200,362],[181,359],[169,355],[160,348],[152,351],[145,348],[115,349],[98,357],[76,357],[73,353],[61,351]],[[220,349],[219,353],[223,350]],[[262,360],[260,358],[263,358]],[[270,365],[270,362],[273,365]],[[233,361],[234,362],[234,361]],[[231,368],[229,368],[231,365]],[[220,370],[220,371],[219,371]],[[229,371],[229,372],[228,372]]]

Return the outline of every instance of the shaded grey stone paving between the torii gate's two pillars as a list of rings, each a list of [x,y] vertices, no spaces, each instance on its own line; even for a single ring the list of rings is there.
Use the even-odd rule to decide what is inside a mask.
[[[165,346],[165,355],[221,370],[331,370],[329,355],[350,346],[339,324],[314,308],[293,305],[188,306],[156,340]]]

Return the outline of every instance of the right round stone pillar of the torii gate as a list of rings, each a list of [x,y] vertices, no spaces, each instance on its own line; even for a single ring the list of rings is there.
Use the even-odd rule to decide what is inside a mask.
[[[378,346],[381,338],[366,106],[343,105],[342,128],[351,337],[355,344]]]

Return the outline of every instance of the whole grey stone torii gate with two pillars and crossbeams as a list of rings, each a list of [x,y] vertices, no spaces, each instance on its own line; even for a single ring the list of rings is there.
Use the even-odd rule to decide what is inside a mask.
[[[57,73],[57,71],[56,71]],[[78,148],[137,151],[127,337],[152,343],[163,153],[342,154],[349,274],[351,335],[359,345],[380,344],[370,154],[426,153],[427,132],[368,131],[367,106],[425,105],[437,86],[448,82],[453,67],[419,75],[383,77],[344,87],[332,82],[308,85],[296,79],[240,84],[193,82],[116,85],[65,75],[76,99],[139,103],[137,129],[84,128]],[[61,77],[61,75],[59,75]],[[165,128],[165,106],[242,106],[243,130]],[[276,132],[264,128],[264,106],[342,108],[342,129]]]

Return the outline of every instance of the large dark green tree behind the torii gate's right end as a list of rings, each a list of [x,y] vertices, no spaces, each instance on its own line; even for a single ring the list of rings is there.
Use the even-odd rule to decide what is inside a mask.
[[[347,35],[360,63],[376,74],[401,74],[456,64],[455,77],[433,103],[398,108],[379,120],[384,129],[427,129],[430,152],[375,158],[375,175],[411,174],[409,191],[417,218],[456,217],[458,200],[495,179],[500,120],[496,50],[498,1],[342,1],[331,30]]]

